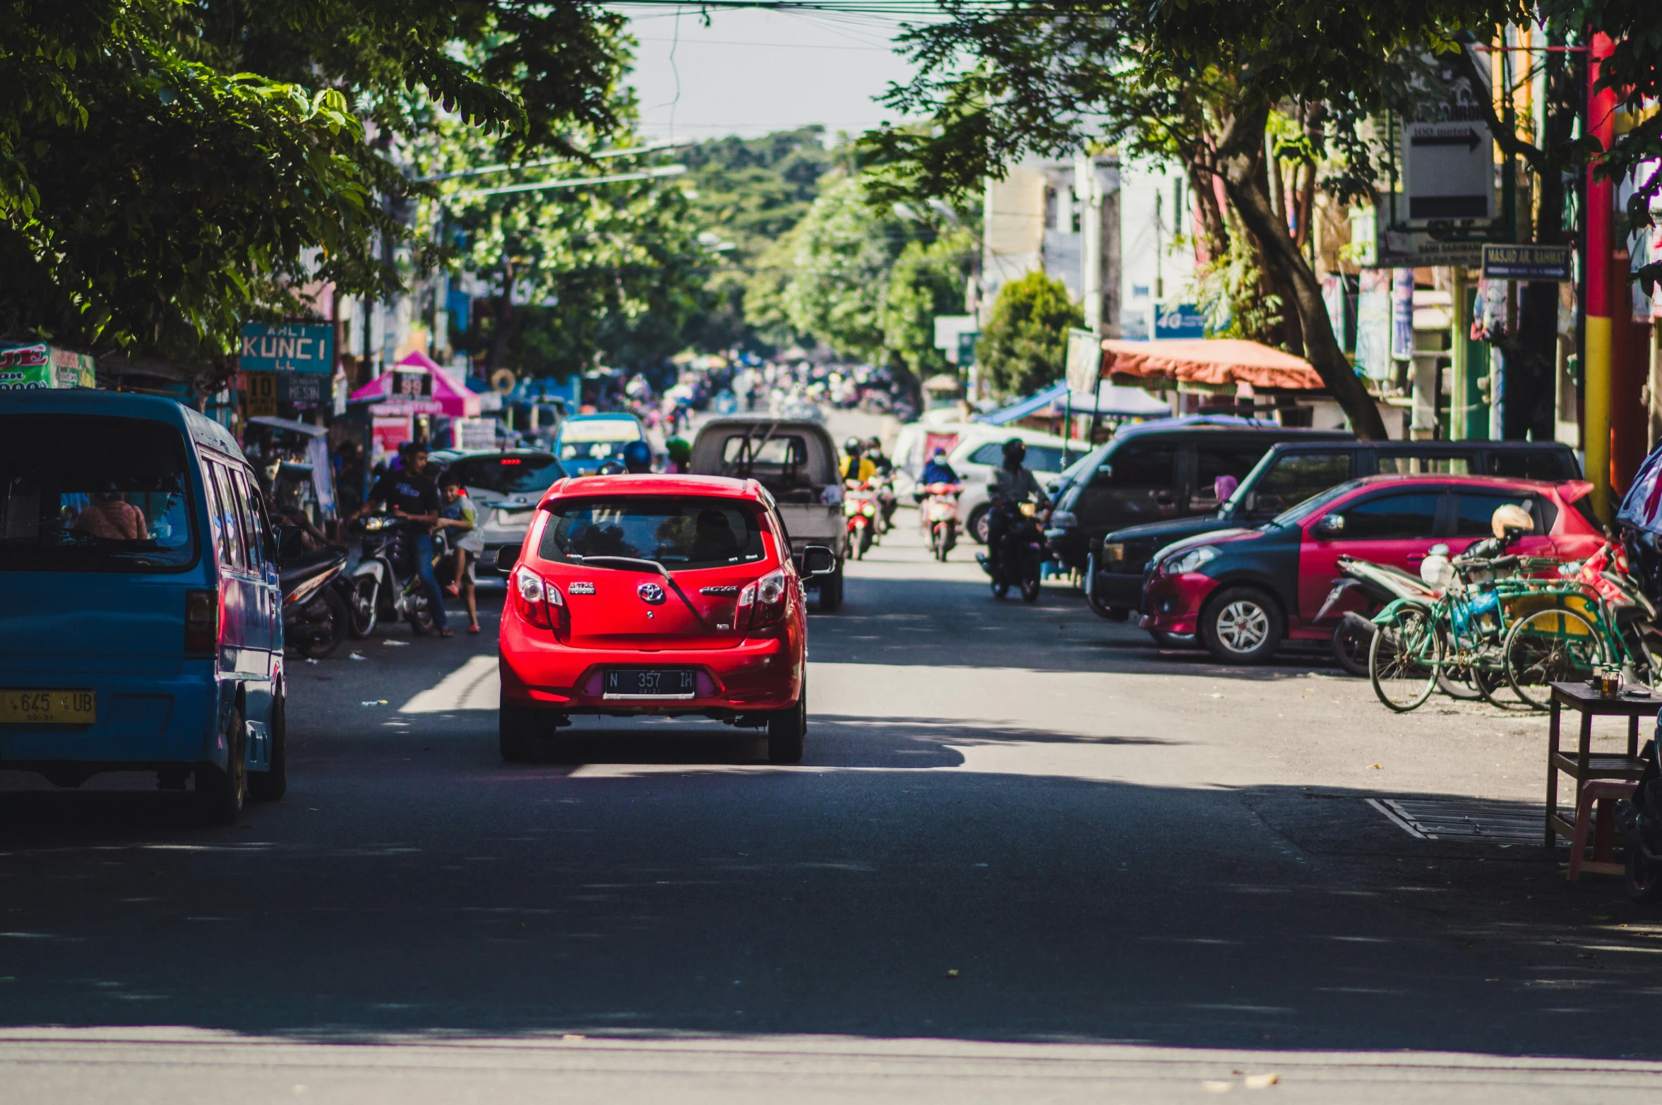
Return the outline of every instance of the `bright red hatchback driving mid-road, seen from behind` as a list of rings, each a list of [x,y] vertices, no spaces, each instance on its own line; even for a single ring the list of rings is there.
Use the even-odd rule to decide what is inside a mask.
[[[829,548],[803,557],[804,572],[833,565]],[[504,759],[535,759],[572,715],[696,715],[765,728],[771,761],[801,761],[803,587],[756,480],[563,479],[497,567]]]

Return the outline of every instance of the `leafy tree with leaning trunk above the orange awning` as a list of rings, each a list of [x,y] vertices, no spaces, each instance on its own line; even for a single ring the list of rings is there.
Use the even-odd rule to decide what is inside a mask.
[[[936,126],[866,140],[891,191],[962,194],[1027,153],[1062,156],[1090,143],[1177,156],[1202,199],[1212,254],[1223,253],[1228,234],[1227,219],[1210,209],[1220,183],[1296,312],[1290,344],[1311,361],[1356,432],[1383,437],[1379,414],[1333,336],[1315,271],[1270,196],[1270,118],[1276,110],[1298,115],[1311,151],[1343,163],[1333,183],[1366,189],[1376,163],[1361,120],[1411,93],[1426,50],[1454,50],[1463,32],[1526,18],[1522,5],[1012,0],[949,10],[952,18],[906,33],[917,76],[888,96]]]

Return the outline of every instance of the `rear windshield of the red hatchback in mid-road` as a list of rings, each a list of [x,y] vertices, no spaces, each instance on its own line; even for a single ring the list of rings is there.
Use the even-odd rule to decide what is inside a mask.
[[[585,557],[656,560],[665,568],[718,568],[761,560],[761,523],[750,503],[706,498],[573,498],[548,507],[537,555],[582,563]]]

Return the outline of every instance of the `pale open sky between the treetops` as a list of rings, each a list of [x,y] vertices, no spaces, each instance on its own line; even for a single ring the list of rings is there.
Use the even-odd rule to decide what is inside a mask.
[[[809,123],[858,133],[892,118],[873,96],[911,76],[889,17],[613,3],[640,40],[630,83],[655,140],[756,136]]]

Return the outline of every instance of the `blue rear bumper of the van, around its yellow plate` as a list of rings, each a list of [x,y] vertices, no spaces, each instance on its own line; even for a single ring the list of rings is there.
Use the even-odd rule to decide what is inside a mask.
[[[211,660],[188,660],[178,675],[7,673],[0,690],[90,690],[96,721],[0,724],[0,768],[45,763],[153,768],[213,759],[221,691]],[[223,758],[223,751],[221,751]]]

